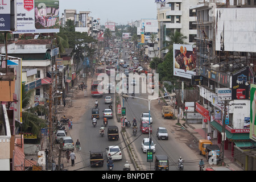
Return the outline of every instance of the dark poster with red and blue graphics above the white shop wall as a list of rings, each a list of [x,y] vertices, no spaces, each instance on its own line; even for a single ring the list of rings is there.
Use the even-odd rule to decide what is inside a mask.
[[[253,83],[253,73],[250,67],[245,67],[232,75],[232,100],[249,99],[250,83]]]

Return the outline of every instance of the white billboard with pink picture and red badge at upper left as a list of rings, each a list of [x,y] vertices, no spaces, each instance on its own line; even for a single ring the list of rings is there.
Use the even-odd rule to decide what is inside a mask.
[[[16,0],[14,34],[59,32],[59,0]]]

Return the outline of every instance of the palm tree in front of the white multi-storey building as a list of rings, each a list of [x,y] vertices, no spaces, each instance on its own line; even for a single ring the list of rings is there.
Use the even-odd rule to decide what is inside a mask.
[[[183,36],[183,34],[181,34],[179,31],[170,33],[167,35],[167,37],[170,40],[164,40],[163,43],[166,44],[166,47],[162,48],[161,50],[168,49],[168,52],[172,51],[173,44],[184,44],[184,40],[187,39],[187,36]]]

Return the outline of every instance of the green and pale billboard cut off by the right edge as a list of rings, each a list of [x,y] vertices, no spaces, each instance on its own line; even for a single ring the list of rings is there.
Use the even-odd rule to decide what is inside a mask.
[[[256,85],[251,84],[250,87],[250,139],[256,142]]]

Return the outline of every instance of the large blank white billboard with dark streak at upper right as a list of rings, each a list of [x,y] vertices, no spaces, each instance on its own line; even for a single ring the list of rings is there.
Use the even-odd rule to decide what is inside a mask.
[[[256,52],[255,7],[217,8],[215,15],[216,51]]]

